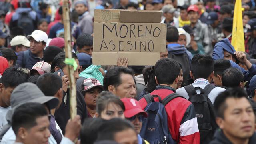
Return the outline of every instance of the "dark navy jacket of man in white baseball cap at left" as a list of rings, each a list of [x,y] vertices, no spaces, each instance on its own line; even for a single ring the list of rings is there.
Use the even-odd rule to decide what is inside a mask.
[[[28,68],[29,70],[37,63],[42,61],[42,58],[38,58],[38,56],[31,53],[30,50],[28,51],[28,59],[26,60],[26,56],[24,56],[24,52],[18,53],[17,64],[22,68]]]

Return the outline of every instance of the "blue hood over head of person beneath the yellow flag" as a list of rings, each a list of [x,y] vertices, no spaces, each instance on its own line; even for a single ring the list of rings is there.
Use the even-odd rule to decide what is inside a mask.
[[[234,49],[234,47],[231,45],[230,41],[227,38],[221,40],[214,46],[212,58],[214,60],[223,59],[224,50],[226,50],[230,54],[234,54],[236,52],[236,50]]]

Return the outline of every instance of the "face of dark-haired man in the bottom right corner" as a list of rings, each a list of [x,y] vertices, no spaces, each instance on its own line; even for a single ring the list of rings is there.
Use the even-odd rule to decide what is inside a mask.
[[[228,138],[246,139],[254,133],[255,116],[246,98],[227,98],[224,118],[216,122]]]

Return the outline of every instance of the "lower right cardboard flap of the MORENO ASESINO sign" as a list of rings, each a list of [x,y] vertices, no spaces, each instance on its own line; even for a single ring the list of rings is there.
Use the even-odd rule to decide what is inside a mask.
[[[118,58],[128,58],[129,66],[154,66],[160,59],[159,52],[118,52]]]

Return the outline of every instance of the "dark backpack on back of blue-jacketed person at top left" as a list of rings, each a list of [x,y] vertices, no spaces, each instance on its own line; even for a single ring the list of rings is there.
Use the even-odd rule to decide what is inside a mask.
[[[19,14],[18,26],[23,28],[26,36],[35,30],[34,21],[30,16],[30,12],[22,12]]]

